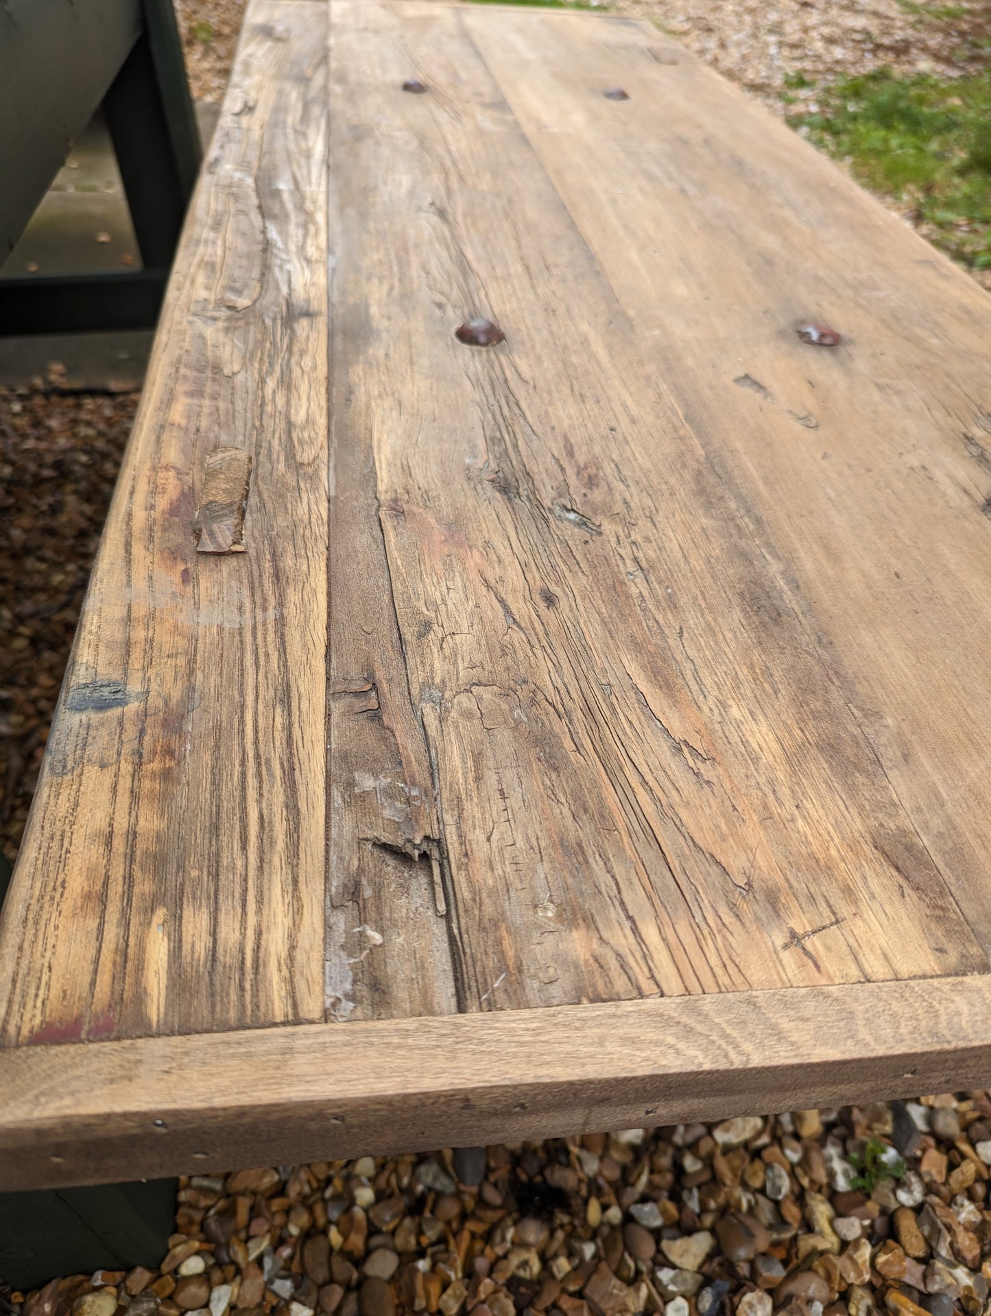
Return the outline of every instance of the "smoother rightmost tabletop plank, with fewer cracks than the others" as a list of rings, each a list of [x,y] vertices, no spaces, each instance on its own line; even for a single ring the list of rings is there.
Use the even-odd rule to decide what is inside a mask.
[[[991,299],[653,29],[562,18],[466,24],[987,951]]]

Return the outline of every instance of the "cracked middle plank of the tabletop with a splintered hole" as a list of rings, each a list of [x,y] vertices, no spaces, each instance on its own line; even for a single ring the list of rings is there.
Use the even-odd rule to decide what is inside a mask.
[[[601,88],[626,29],[357,0],[332,14],[332,522],[355,551],[330,559],[330,1016],[412,1013],[411,984],[444,1013],[986,969],[850,707],[845,651],[534,147],[554,157],[566,134],[576,159],[584,136],[608,139],[582,174],[608,209],[620,147],[599,121],[625,108]],[[505,51],[496,74],[480,34]],[[566,97],[540,66],[565,80],[572,47],[604,71]],[[403,93],[411,75],[426,95]],[[544,114],[533,141],[503,91],[521,82]],[[642,113],[641,138],[678,136]],[[636,143],[628,158],[634,172]],[[632,288],[646,240],[611,234]],[[463,346],[472,315],[507,341]],[[788,333],[779,353],[808,355]],[[729,401],[732,429],[754,399]],[[805,461],[821,470],[808,443]],[[921,680],[928,651],[898,662]],[[390,867],[395,849],[411,859]],[[417,853],[438,861],[436,903]]]

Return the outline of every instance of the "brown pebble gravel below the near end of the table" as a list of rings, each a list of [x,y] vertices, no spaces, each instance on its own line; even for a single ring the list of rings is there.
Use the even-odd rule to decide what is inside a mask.
[[[991,1100],[182,1179],[157,1270],[16,1316],[980,1316]]]

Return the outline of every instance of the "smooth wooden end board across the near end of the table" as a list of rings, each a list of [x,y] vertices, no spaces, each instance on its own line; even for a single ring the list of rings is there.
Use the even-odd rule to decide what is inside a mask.
[[[984,1087],[990,1017],[978,976],[22,1048],[0,1190]]]

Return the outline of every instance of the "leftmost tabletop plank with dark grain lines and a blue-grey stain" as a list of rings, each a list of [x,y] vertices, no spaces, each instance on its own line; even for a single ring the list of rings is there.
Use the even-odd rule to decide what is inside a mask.
[[[3,909],[8,1045],[322,1013],[325,33],[249,7]],[[246,551],[197,554],[225,445]]]

